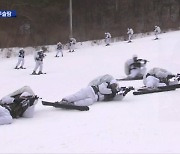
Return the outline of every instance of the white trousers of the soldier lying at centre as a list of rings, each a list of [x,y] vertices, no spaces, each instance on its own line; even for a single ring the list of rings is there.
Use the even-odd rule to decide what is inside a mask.
[[[81,89],[75,94],[64,97],[69,102],[74,102],[77,106],[89,106],[97,101],[98,96],[95,95],[91,86]]]

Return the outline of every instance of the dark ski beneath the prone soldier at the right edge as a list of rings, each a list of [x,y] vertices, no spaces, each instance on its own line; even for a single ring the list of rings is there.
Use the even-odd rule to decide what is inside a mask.
[[[176,90],[175,87],[158,87],[158,88],[140,88],[133,92],[133,95],[143,95],[143,94],[151,94],[151,93],[158,93],[158,92],[166,92]]]

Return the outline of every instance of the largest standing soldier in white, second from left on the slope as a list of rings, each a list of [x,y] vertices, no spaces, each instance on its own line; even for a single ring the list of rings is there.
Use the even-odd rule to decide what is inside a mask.
[[[36,70],[39,68],[39,72],[38,74],[43,74],[42,73],[42,69],[43,69],[43,59],[46,55],[44,54],[43,50],[41,49],[40,51],[37,52],[37,54],[35,55],[35,68],[33,70],[33,75],[36,75]]]

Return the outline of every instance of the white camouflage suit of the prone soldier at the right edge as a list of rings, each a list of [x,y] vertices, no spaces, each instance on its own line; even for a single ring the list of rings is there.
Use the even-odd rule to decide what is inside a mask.
[[[149,75],[147,75],[149,74]],[[166,79],[168,75],[173,75],[171,72],[162,68],[153,68],[147,72],[143,77],[143,83],[146,87],[156,88],[160,86],[166,86],[166,83],[161,82],[161,79]],[[169,85],[178,84],[177,79],[169,80]]]

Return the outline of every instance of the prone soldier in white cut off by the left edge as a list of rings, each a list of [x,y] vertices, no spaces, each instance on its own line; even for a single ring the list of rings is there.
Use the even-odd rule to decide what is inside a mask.
[[[32,89],[24,86],[0,100],[0,125],[11,124],[13,118],[31,118],[38,97]]]

